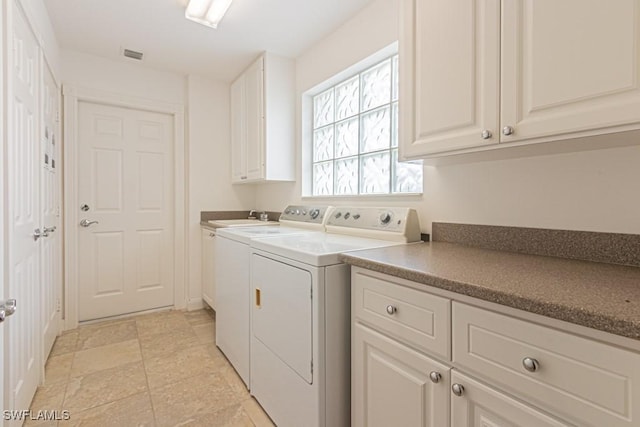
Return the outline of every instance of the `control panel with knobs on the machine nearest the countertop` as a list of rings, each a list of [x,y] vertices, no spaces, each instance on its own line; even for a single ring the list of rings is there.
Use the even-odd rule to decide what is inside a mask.
[[[352,234],[348,230],[361,230],[359,235],[385,238],[385,233],[407,237],[407,241],[420,240],[418,215],[410,208],[370,208],[339,206],[327,218],[327,231]]]

